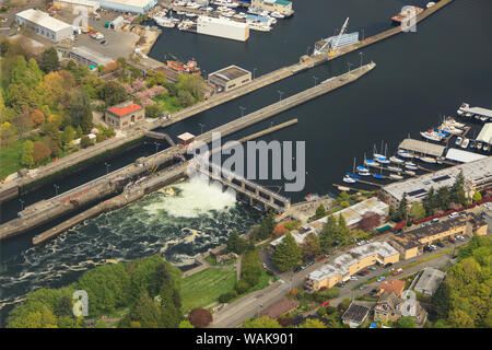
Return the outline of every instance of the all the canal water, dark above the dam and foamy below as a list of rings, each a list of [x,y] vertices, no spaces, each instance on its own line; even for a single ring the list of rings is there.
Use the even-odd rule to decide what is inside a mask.
[[[163,28],[150,56],[164,59],[174,54],[195,58],[207,72],[229,65],[256,74],[291,65],[314,42],[331,36],[350,18],[348,32],[364,30],[364,36],[390,27],[390,18],[408,4],[425,1],[309,0],[296,1],[296,13],[279,21],[270,33],[251,33],[247,43]],[[288,194],[298,201],[307,194],[333,191],[344,172],[372,152],[374,143],[388,143],[390,151],[408,135],[436,126],[440,115],[455,115],[461,102],[492,107],[492,23],[490,0],[455,0],[418,24],[415,33],[402,33],[363,49],[363,62],[377,67],[355,83],[318,97],[237,135],[238,138],[291,118],[298,124],[263,137],[266,141],[306,141],[306,184],[301,192]],[[352,52],[324,66],[278,82],[227,104],[166,128],[172,137],[200,132],[233,120],[239,106],[253,112],[313,86],[360,65]],[[125,156],[122,158],[125,159]],[[109,162],[115,162],[112,160]],[[104,166],[98,171],[105,172]],[[96,172],[95,167],[86,174]],[[72,175],[73,176],[73,175]],[[85,176],[85,175],[80,175]],[[67,177],[67,180],[75,180]],[[270,182],[260,182],[272,185]],[[52,184],[46,190],[54,190]],[[134,259],[163,254],[177,265],[225,240],[233,230],[247,231],[259,214],[234,201],[229,192],[206,183],[185,182],[174,186],[175,196],[155,192],[117,211],[87,220],[68,233],[34,248],[28,243],[36,230],[0,245],[0,303],[10,304],[42,287],[73,281],[83,270],[106,260]],[[19,206],[19,202],[15,203]],[[14,212],[17,209],[12,209]],[[3,307],[3,314],[9,306]]]

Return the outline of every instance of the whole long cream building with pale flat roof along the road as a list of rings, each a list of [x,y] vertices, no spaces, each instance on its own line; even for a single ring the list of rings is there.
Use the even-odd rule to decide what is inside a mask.
[[[305,287],[313,291],[320,288],[331,288],[337,283],[348,281],[358,271],[375,265],[397,262],[400,254],[386,242],[374,242],[350,249],[319,270],[311,272],[305,280]]]

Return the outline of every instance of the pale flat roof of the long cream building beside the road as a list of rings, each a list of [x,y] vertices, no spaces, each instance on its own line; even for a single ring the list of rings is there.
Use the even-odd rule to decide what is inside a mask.
[[[326,264],[319,270],[311,272],[309,279],[319,282],[337,275],[345,276],[352,265],[368,256],[379,255],[380,257],[386,258],[397,254],[399,254],[398,250],[386,242],[364,244],[340,255],[333,261]]]

